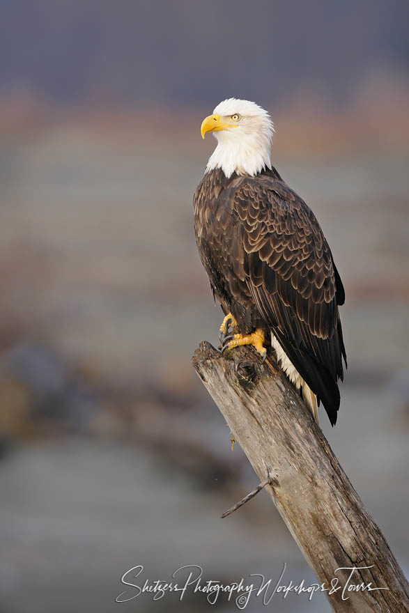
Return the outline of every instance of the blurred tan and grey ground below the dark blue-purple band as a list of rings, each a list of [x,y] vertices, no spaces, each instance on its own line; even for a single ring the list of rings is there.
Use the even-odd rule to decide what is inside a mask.
[[[323,430],[408,566],[403,102],[273,114],[273,161],[321,222],[346,288],[349,367],[339,424],[332,430],[321,412]],[[217,519],[255,479],[240,449],[231,454],[190,364],[201,339],[217,343],[222,314],[194,244],[192,194],[214,146],[200,139],[201,118],[151,110],[45,120],[24,104],[3,109],[6,613],[78,610],[61,601],[72,589],[84,610],[114,610],[118,577],[142,558],[151,575],[203,563],[231,580],[261,568],[274,576],[287,561],[310,576],[267,497],[222,527]]]

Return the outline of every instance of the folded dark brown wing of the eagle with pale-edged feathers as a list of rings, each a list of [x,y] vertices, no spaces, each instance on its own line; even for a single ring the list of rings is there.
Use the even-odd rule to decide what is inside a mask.
[[[345,295],[321,227],[271,176],[246,178],[233,210],[240,220],[234,265],[240,262],[258,311],[334,424],[346,362],[338,312]]]

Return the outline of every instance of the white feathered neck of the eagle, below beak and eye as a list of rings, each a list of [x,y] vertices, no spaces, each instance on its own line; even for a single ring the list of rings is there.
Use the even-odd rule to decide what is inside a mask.
[[[270,137],[247,134],[236,139],[231,134],[215,132],[217,147],[210,155],[206,172],[222,169],[227,178],[236,172],[238,175],[255,176],[265,169],[271,169]]]

